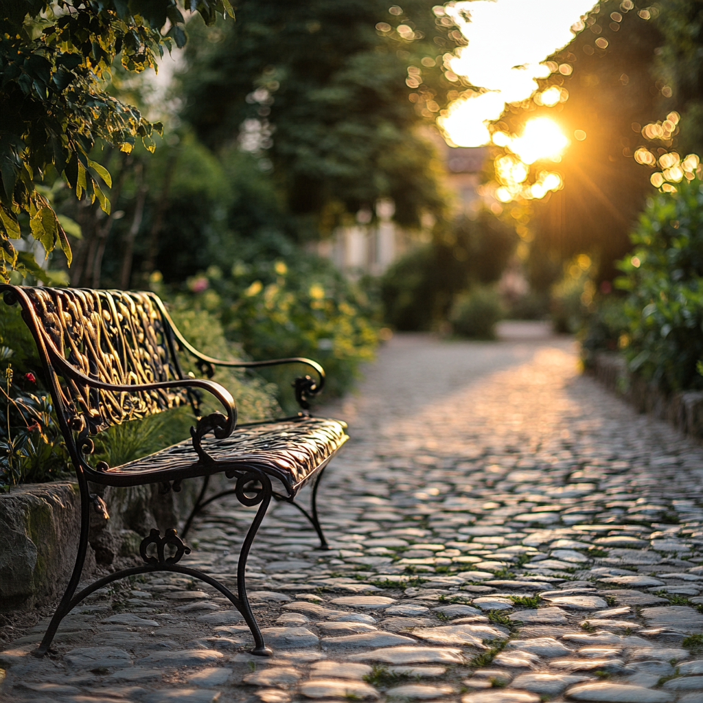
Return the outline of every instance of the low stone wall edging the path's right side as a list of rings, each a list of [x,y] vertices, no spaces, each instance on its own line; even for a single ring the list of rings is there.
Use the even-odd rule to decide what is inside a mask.
[[[675,425],[684,434],[703,439],[703,392],[666,393],[631,373],[625,359],[614,352],[596,354],[592,371],[607,389],[631,403],[638,412],[650,413]]]

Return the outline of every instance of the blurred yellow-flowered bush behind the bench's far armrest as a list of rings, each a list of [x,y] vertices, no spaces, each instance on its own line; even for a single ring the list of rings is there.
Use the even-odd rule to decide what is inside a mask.
[[[307,356],[318,361],[327,373],[325,395],[341,394],[359,365],[373,359],[378,335],[368,299],[333,264],[312,254],[294,252],[288,264],[252,258],[251,263],[236,262],[226,273],[211,266],[189,279],[193,292],[179,304],[211,311],[227,339],[241,344],[251,359]],[[281,389],[300,373],[310,370],[262,370]],[[292,393],[280,396],[289,410],[294,409],[291,401]]]

